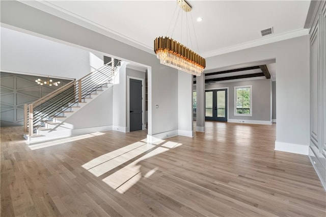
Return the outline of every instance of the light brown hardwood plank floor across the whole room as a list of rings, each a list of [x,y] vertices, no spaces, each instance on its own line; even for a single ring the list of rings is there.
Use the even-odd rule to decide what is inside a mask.
[[[1,216],[325,216],[307,156],[274,151],[275,125],[206,122],[157,145],[106,131],[26,145],[1,128]]]

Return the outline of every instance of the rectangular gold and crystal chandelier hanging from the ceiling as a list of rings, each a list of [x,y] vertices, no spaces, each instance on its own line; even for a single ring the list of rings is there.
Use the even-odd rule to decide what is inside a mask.
[[[185,12],[190,12],[192,10],[192,7],[186,3],[184,0],[177,0],[177,5],[180,7],[180,10],[182,9]],[[181,12],[182,13],[182,12]],[[174,16],[174,15],[173,15]],[[179,14],[177,16],[177,19],[179,17]],[[172,17],[173,19],[173,17]],[[181,18],[182,19],[182,18]],[[193,20],[192,20],[193,21]],[[172,22],[172,20],[171,20]],[[177,22],[177,20],[176,20]],[[176,25],[176,23],[175,23]],[[171,26],[171,23],[170,23]],[[170,28],[169,26],[169,28]],[[182,26],[182,20],[181,20],[181,26]],[[190,35],[189,30],[189,23],[188,23],[188,17],[186,16],[186,28],[187,28],[187,34]],[[194,23],[193,23],[194,28]],[[175,26],[174,26],[175,29]],[[169,32],[169,29],[168,29]],[[174,32],[174,30],[173,30]],[[172,35],[173,35],[172,32]],[[194,28],[195,33],[195,28]],[[188,35],[187,35],[188,37]],[[195,33],[196,38],[196,33]],[[181,28],[181,39],[182,39],[182,28]],[[197,43],[197,38],[196,38]],[[198,43],[197,43],[198,47]],[[171,66],[173,68],[185,71],[187,73],[191,73],[197,76],[200,76],[201,73],[204,71],[204,68],[206,66],[205,59],[198,55],[198,53],[194,52],[193,50],[189,49],[188,47],[184,46],[183,44],[175,41],[170,37],[158,37],[154,40],[154,52],[156,53],[156,57],[160,60],[161,64]]]

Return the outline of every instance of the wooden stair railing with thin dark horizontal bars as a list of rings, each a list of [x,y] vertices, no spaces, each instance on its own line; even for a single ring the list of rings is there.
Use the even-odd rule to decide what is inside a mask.
[[[119,60],[112,59],[99,69],[80,78],[72,80],[65,86],[27,105],[24,104],[24,130],[32,136],[36,129],[45,126],[53,118],[62,117],[76,103],[83,102],[91,93],[108,84],[114,78],[120,65]]]

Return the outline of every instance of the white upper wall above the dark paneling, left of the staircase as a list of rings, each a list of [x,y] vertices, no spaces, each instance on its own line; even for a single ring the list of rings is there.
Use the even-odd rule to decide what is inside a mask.
[[[1,27],[1,70],[80,78],[90,72],[89,51]]]

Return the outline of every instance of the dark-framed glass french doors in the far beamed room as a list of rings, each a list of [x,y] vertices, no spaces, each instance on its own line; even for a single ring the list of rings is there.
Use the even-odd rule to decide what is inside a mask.
[[[228,90],[205,91],[205,120],[228,121]]]

